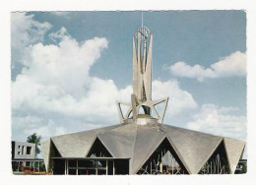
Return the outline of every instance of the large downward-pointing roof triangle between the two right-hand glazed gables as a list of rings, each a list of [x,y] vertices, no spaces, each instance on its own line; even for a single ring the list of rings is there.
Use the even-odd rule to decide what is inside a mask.
[[[199,172],[223,140],[222,137],[169,125],[161,127],[193,174]]]

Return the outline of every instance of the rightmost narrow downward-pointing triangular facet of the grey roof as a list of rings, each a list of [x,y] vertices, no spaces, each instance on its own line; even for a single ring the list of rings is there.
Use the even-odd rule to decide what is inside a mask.
[[[236,165],[243,153],[245,142],[224,138],[224,147],[229,161],[231,173],[234,173]]]

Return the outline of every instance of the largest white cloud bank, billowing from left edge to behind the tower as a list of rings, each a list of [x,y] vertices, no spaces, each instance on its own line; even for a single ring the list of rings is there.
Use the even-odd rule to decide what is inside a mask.
[[[43,44],[41,35],[22,48],[19,62],[23,68],[11,84],[14,138],[20,140],[33,132],[47,138],[118,124],[115,102],[130,102],[132,86],[118,89],[112,80],[90,74],[107,49],[108,40],[94,37],[77,41],[65,28],[48,36],[54,44]],[[153,98],[165,96],[170,96],[167,111],[171,115],[197,106],[193,96],[181,90],[177,81],[154,81]]]

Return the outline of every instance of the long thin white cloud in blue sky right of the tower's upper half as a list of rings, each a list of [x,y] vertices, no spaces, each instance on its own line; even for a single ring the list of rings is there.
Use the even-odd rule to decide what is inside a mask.
[[[212,64],[210,68],[198,64],[190,66],[180,61],[167,67],[167,69],[176,77],[197,79],[200,82],[205,79],[244,77],[246,76],[246,54],[236,51]]]

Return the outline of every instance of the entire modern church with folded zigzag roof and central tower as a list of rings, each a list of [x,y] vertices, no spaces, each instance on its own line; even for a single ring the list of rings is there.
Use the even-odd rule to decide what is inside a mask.
[[[48,171],[63,175],[234,173],[245,142],[162,123],[168,97],[152,99],[152,52],[153,34],[142,27],[133,36],[131,103],[117,103],[121,123],[51,137],[42,143]]]

